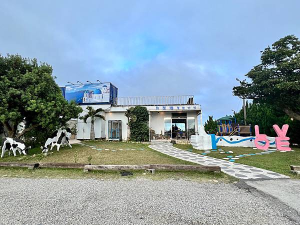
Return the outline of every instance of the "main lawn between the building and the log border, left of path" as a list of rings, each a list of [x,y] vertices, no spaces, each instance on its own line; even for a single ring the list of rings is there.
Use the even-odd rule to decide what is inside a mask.
[[[0,161],[17,162],[77,162],[91,164],[192,164],[196,163],[177,159],[160,153],[143,143],[108,142],[108,141],[82,141],[81,144],[73,144],[72,148],[56,148],[44,156],[40,148],[30,149],[28,155],[8,156],[7,152]],[[94,146],[93,149],[90,146]],[[102,150],[97,150],[102,149]],[[109,149],[109,150],[105,150]],[[122,149],[122,150],[120,150]],[[134,149],[134,150],[132,150]],[[32,157],[32,155],[34,155]]]

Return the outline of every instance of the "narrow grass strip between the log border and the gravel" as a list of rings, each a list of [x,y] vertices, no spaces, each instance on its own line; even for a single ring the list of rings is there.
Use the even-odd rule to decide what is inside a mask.
[[[83,169],[63,169],[63,168],[39,168],[27,169],[20,167],[0,167],[0,177],[18,177],[18,178],[95,178],[95,179],[132,179],[132,178],[149,178],[153,180],[162,179],[184,179],[199,182],[224,182],[232,183],[238,179],[229,176],[223,172],[199,172],[199,171],[167,171],[156,170],[154,174],[142,174],[144,170],[134,170],[131,176],[121,176],[120,171],[92,170],[88,173],[83,172]]]

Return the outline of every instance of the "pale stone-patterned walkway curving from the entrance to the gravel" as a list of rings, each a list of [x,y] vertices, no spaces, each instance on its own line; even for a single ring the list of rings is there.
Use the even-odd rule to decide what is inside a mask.
[[[161,153],[185,161],[191,161],[201,165],[218,165],[221,167],[222,172],[240,179],[262,180],[262,179],[289,178],[286,175],[282,175],[266,169],[261,169],[249,165],[239,164],[235,162],[226,161],[223,159],[213,158],[206,155],[185,151],[173,147],[173,145],[170,143],[151,143],[149,147]]]

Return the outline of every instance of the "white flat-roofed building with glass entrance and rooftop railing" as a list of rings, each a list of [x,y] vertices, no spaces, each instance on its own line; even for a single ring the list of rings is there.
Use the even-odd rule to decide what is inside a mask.
[[[108,85],[113,86],[110,83]],[[105,120],[96,118],[94,121],[95,138],[126,140],[127,117],[124,113],[126,109],[136,105],[145,106],[148,110],[149,136],[152,139],[176,138],[187,140],[190,135],[197,134],[198,115],[201,118],[201,108],[199,104],[193,102],[192,95],[117,97],[117,88],[113,86],[113,90],[107,86],[105,85],[104,89],[103,87],[94,89],[93,95],[95,92],[96,94],[103,94],[104,91],[110,92],[110,102],[89,103],[92,102],[90,98],[93,95],[90,96],[88,91],[84,91],[84,94],[81,95],[83,96],[82,103],[79,103],[83,109],[79,117],[86,114],[86,106],[88,105],[104,110],[101,114]],[[115,93],[111,94],[112,92]],[[90,91],[90,93],[92,92]],[[90,138],[90,118],[87,119],[87,123],[81,119],[74,119],[70,121],[71,124],[77,127],[77,139]]]

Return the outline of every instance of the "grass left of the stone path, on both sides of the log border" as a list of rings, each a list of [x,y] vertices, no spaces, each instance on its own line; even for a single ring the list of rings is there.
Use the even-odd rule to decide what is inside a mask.
[[[108,142],[102,140],[82,141],[81,144],[72,144],[72,148],[54,148],[44,156],[40,148],[30,149],[28,155],[8,156],[7,152],[0,161],[18,162],[78,162],[91,164],[195,164],[180,160],[148,147],[143,143]],[[89,145],[89,146],[87,146]],[[101,148],[92,149],[90,146]],[[109,150],[105,150],[109,149]],[[123,150],[120,150],[123,149]],[[132,150],[134,149],[134,150]],[[33,157],[33,155],[35,156]],[[90,157],[90,161],[88,160]],[[197,165],[197,164],[195,164]],[[196,171],[156,171],[155,174],[142,174],[142,170],[134,170],[132,177],[148,177],[151,179],[191,179],[205,182],[232,182],[237,179],[222,172],[196,172]],[[0,177],[47,177],[47,178],[120,178],[119,171],[90,171],[84,173],[83,169],[40,168],[29,170],[27,168],[0,167]],[[130,178],[125,177],[125,178]],[[214,180],[214,181],[213,181]]]

